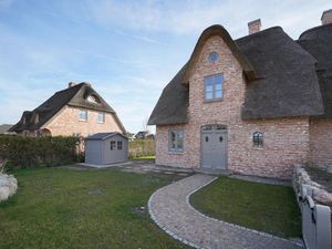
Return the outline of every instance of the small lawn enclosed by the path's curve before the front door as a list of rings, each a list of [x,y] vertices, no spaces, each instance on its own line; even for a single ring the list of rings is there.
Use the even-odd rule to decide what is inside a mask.
[[[222,177],[195,193],[190,203],[217,219],[279,237],[301,237],[301,216],[291,187]]]

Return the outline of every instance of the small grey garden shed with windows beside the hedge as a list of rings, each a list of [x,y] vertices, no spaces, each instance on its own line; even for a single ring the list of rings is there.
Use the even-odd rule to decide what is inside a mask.
[[[128,138],[122,133],[96,133],[85,138],[85,164],[108,165],[126,162]]]

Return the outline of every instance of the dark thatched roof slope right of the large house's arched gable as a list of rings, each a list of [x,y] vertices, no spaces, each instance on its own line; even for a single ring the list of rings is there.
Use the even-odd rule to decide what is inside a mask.
[[[242,118],[323,113],[317,60],[279,27],[236,41],[262,79],[247,84]]]

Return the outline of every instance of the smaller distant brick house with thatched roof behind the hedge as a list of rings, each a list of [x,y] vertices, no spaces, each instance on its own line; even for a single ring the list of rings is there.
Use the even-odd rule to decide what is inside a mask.
[[[69,83],[33,111],[25,111],[11,132],[24,136],[87,136],[125,128],[115,111],[89,83]]]

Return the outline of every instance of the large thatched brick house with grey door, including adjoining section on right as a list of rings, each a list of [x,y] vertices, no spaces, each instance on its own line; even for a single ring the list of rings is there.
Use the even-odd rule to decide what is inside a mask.
[[[156,164],[290,177],[292,165],[332,165],[332,10],[292,40],[280,27],[234,40],[200,35],[148,121]]]

